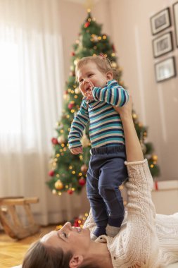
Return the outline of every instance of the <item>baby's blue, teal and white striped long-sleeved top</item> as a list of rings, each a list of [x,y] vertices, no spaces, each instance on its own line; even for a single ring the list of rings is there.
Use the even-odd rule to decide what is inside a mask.
[[[116,80],[110,80],[106,87],[94,87],[92,94],[94,100],[87,102],[84,98],[72,121],[68,135],[69,148],[82,146],[80,140],[88,121],[92,148],[125,145],[122,121],[113,106],[124,106],[128,102],[127,90]]]

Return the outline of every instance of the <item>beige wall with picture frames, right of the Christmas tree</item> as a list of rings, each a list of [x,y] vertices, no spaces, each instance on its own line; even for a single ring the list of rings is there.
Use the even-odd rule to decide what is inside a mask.
[[[148,140],[153,142],[160,180],[178,179],[178,77],[162,83],[155,82],[154,64],[175,56],[178,68],[178,48],[175,46],[174,25],[172,30],[174,50],[156,60],[153,58],[150,17],[176,1],[170,0],[112,0],[110,4],[112,37],[123,80],[134,98],[134,109],[139,119],[148,126]],[[173,19],[173,16],[171,16]],[[172,20],[172,23],[174,21]],[[160,32],[162,35],[164,32]]]

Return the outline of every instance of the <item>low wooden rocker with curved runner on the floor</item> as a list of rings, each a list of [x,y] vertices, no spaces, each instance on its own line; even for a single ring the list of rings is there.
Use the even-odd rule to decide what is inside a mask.
[[[37,197],[4,197],[0,198],[0,223],[4,231],[11,238],[22,239],[39,232],[39,225],[35,224],[30,204],[39,202]],[[28,224],[25,225],[18,216],[16,206],[25,210]]]

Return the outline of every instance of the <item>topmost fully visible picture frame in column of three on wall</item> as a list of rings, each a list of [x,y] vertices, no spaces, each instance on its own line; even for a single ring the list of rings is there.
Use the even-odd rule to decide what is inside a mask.
[[[155,15],[151,16],[151,32],[152,35],[156,35],[158,32],[165,30],[171,26],[170,20],[170,8],[165,8]]]

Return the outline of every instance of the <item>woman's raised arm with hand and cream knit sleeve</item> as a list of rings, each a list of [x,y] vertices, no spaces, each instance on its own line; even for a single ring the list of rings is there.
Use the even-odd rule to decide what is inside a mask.
[[[141,145],[132,120],[132,97],[123,108],[115,108],[120,113],[127,153],[127,229],[125,236],[125,259],[128,267],[158,267],[159,245],[155,232],[155,207],[151,200],[153,178],[147,160],[144,160]],[[133,250],[134,248],[134,250]]]

